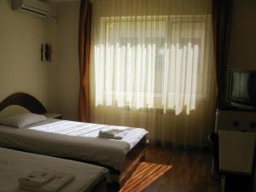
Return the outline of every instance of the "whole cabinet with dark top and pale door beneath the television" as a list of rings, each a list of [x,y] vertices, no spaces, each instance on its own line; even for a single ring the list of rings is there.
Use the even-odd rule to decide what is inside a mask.
[[[226,177],[225,192],[233,189],[256,191],[255,187],[253,189],[255,122],[256,113],[223,110],[217,112],[219,172]],[[237,182],[238,180],[241,182]]]

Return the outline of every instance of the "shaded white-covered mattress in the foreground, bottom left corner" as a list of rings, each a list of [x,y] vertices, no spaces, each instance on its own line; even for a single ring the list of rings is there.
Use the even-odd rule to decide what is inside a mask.
[[[105,168],[73,160],[62,160],[40,154],[28,154],[8,148],[0,148],[0,154],[1,192],[25,192],[19,189],[18,178],[37,170],[69,172],[75,175],[73,183],[61,189],[61,192],[88,192],[103,177],[108,177],[108,170]]]

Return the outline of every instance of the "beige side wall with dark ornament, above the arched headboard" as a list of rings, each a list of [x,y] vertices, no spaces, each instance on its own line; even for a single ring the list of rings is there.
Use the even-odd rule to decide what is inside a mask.
[[[12,11],[0,1],[0,101],[23,91],[48,106],[48,70],[55,63],[40,61],[43,43],[54,44],[55,25],[32,15]]]

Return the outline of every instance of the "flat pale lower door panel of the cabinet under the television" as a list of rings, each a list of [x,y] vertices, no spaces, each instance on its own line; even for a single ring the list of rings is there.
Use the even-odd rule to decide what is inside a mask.
[[[219,171],[251,175],[256,132],[218,131]]]

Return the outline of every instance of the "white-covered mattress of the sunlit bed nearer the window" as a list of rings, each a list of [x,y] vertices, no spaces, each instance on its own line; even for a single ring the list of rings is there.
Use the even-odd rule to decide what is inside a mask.
[[[100,129],[106,126],[109,125],[59,119],[47,119],[22,129],[0,125],[0,146],[62,158],[90,160],[122,171],[126,154],[148,135],[148,131],[118,126],[119,129],[130,129],[122,140],[97,137]]]

